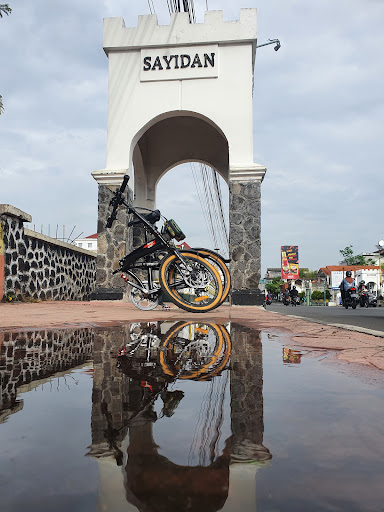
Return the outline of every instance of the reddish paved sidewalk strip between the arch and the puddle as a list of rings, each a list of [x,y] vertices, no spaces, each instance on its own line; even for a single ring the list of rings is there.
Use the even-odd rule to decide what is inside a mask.
[[[384,370],[384,338],[366,333],[290,318],[257,306],[229,306],[204,314],[193,314],[176,306],[169,310],[140,311],[120,301],[0,304],[1,331],[70,326],[105,326],[126,322],[195,320],[196,322],[237,322],[265,331],[290,348],[306,347],[318,353],[333,351],[337,360],[354,363],[354,368]],[[383,374],[384,375],[384,374]]]

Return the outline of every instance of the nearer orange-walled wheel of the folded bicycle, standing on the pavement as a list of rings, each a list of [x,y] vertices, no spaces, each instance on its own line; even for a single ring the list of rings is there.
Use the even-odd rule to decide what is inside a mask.
[[[176,306],[185,311],[202,313],[215,309],[221,304],[223,294],[218,271],[198,254],[183,252],[183,258],[193,268],[192,281],[186,282],[179,270],[182,262],[175,254],[171,254],[163,259],[160,266],[159,281],[162,290]]]

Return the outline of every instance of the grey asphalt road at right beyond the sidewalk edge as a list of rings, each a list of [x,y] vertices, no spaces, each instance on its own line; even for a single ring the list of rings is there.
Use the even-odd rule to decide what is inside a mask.
[[[284,306],[282,303],[273,303],[267,306],[268,311],[275,311],[283,315],[299,316],[326,324],[345,325],[365,332],[376,331],[384,336],[384,308],[345,309],[342,306]]]

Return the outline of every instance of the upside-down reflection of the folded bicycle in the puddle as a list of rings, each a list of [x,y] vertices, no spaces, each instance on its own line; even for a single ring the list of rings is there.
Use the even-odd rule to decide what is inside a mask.
[[[117,367],[140,388],[132,400],[130,422],[172,416],[184,392],[170,390],[171,383],[211,380],[228,367],[231,343],[225,327],[178,322],[165,334],[161,327],[161,322],[132,324],[130,341],[118,353]],[[158,397],[163,400],[159,416],[152,408]]]

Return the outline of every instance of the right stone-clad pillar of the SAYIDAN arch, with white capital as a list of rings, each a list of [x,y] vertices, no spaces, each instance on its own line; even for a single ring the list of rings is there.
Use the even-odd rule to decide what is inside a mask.
[[[229,183],[229,244],[231,303],[261,305],[261,204],[260,189],[265,167],[231,169]]]

